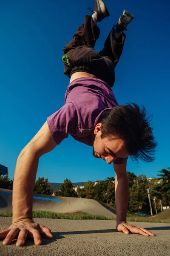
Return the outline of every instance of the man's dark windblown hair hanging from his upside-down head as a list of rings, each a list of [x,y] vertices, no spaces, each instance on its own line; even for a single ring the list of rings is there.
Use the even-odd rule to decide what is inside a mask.
[[[103,111],[99,122],[102,123],[101,137],[116,137],[125,142],[125,148],[133,160],[139,158],[145,162],[155,159],[157,142],[153,136],[146,110],[135,103],[119,105]]]

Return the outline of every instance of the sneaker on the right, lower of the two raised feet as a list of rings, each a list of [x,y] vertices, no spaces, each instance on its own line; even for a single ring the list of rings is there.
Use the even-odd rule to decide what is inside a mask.
[[[127,25],[134,19],[134,16],[131,15],[126,10],[123,11],[122,16],[119,18],[118,23],[116,24],[116,32],[123,32]]]

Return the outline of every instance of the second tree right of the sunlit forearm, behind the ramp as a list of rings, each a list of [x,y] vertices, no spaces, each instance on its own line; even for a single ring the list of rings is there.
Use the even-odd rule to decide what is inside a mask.
[[[77,197],[77,193],[74,190],[74,186],[71,183],[71,180],[68,180],[68,178],[64,180],[64,183],[59,186],[58,195],[66,197]]]

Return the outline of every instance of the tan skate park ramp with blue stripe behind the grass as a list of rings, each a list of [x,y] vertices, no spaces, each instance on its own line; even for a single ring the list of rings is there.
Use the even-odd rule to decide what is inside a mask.
[[[69,198],[34,194],[33,210],[50,212],[86,212],[88,214],[115,217],[115,211],[93,199]],[[12,210],[12,190],[0,189],[0,210]]]

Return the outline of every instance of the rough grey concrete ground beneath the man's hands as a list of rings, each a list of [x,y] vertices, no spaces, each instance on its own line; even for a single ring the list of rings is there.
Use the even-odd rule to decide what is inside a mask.
[[[34,219],[50,228],[54,240],[43,238],[43,244],[34,245],[27,240],[25,246],[3,245],[0,240],[0,256],[165,256],[170,255],[170,224],[139,223],[156,237],[137,234],[125,235],[115,230],[116,221]],[[0,217],[0,231],[11,224],[11,218]]]

